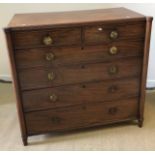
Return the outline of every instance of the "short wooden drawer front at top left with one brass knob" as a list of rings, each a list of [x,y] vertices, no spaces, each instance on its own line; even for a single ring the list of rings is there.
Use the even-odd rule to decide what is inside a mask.
[[[16,49],[41,46],[79,45],[80,28],[13,32]]]

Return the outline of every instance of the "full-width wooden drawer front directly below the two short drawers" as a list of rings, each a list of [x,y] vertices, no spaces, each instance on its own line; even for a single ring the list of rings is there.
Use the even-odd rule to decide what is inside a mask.
[[[105,46],[86,46],[83,50],[78,46],[17,50],[15,58],[18,68],[31,68],[104,62],[109,59],[140,56],[142,54],[143,41],[124,41]]]

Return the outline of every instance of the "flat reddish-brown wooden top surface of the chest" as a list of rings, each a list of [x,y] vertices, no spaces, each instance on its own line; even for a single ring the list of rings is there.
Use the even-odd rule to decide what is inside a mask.
[[[126,8],[111,8],[86,11],[55,12],[55,13],[28,13],[16,14],[7,29],[25,29],[40,26],[51,27],[60,25],[78,25],[94,22],[110,21],[138,21],[145,20],[145,16]]]

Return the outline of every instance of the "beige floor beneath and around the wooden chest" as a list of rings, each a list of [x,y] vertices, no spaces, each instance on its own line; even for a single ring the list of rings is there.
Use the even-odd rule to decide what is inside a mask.
[[[0,150],[155,150],[155,92],[147,92],[143,128],[132,123],[32,136],[23,146],[12,84],[0,84]]]

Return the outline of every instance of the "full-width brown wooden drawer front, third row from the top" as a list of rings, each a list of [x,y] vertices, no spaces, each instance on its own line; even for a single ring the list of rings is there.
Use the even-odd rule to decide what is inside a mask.
[[[139,76],[141,63],[141,58],[132,58],[108,63],[70,65],[61,68],[24,69],[19,71],[19,80],[21,88],[28,90]]]

